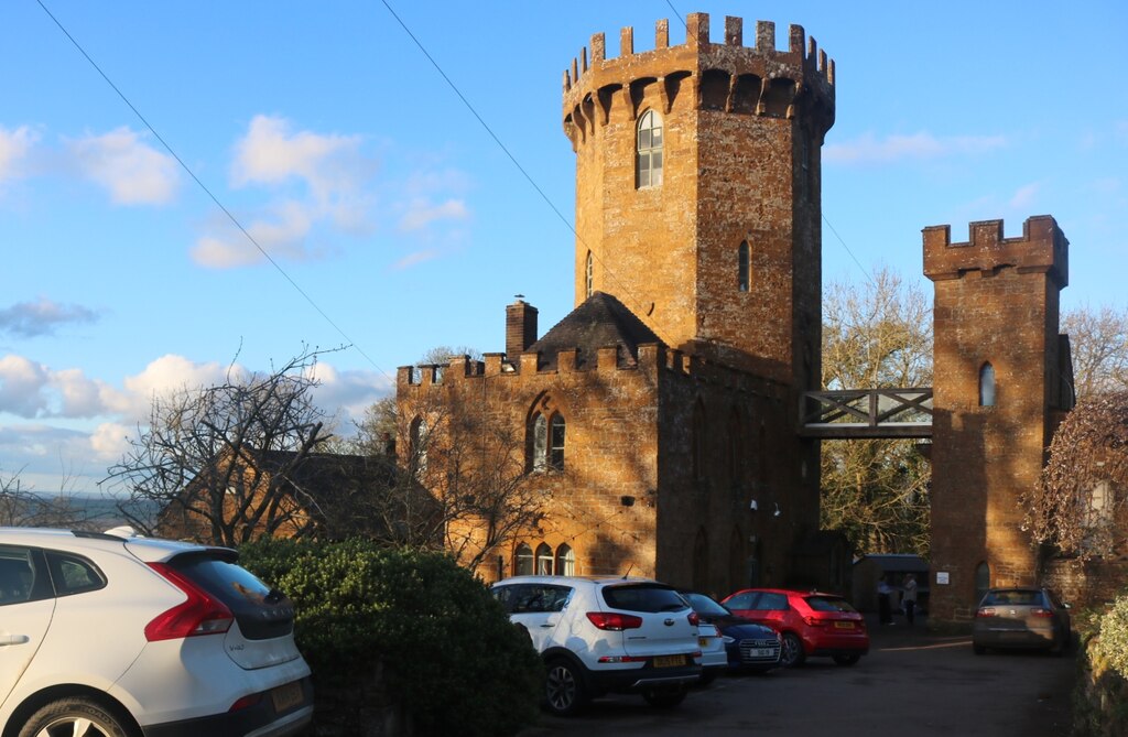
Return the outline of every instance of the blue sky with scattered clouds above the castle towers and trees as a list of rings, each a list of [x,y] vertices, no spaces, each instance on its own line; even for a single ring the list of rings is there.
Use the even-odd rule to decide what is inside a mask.
[[[714,41],[725,15],[748,43],[756,19],[781,46],[800,24],[835,60],[826,281],[890,267],[931,289],[922,228],[1016,236],[1048,213],[1070,240],[1065,308],[1123,308],[1126,8],[0,3],[0,475],[94,491],[155,392],[232,361],[355,345],[319,365],[347,429],[429,349],[503,350],[514,295],[550,327],[573,307],[563,72],[593,33],[617,55],[634,26],[644,51],[695,11]]]

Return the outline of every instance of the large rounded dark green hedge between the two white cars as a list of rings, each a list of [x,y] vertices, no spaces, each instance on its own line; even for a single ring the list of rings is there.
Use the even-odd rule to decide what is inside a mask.
[[[363,539],[265,539],[239,554],[293,600],[298,647],[319,688],[340,693],[382,664],[389,696],[420,734],[512,735],[536,719],[540,659],[449,556]]]

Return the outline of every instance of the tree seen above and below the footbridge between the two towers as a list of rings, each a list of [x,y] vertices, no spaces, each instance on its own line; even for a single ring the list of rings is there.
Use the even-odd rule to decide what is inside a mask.
[[[830,284],[823,304],[826,389],[932,384],[932,315],[924,292],[888,270],[864,287]],[[926,554],[931,467],[913,440],[822,441],[821,525],[862,552]]]

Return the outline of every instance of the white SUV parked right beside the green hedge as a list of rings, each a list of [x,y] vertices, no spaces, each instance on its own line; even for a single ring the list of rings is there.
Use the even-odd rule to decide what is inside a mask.
[[[494,584],[548,668],[545,704],[571,714],[606,692],[673,707],[702,673],[697,614],[649,579],[518,576]]]

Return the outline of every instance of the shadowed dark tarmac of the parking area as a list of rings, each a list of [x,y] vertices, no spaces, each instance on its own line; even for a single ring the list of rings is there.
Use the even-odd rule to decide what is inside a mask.
[[[548,735],[953,735],[1059,737],[1068,732],[1074,650],[977,656],[970,637],[918,623],[871,629],[853,667],[814,658],[802,668],[724,677],[677,709],[637,696],[601,699],[580,717],[543,717],[522,737]]]

